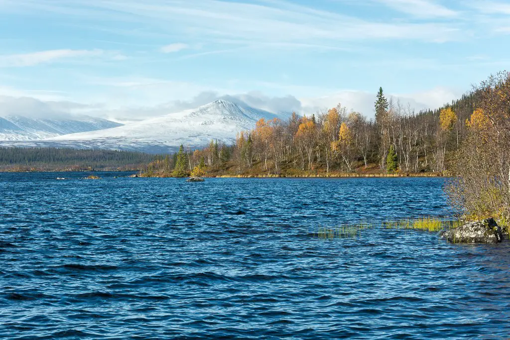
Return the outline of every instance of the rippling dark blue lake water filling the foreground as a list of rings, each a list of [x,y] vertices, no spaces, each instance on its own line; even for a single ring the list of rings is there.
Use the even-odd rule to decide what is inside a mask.
[[[315,234],[449,215],[441,178],[100,175],[0,174],[0,337],[510,337],[508,243]]]

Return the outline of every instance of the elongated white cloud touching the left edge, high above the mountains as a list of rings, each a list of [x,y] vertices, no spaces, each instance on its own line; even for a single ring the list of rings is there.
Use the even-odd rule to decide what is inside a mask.
[[[0,55],[0,67],[35,66],[61,59],[97,57],[104,53],[101,49],[53,49],[26,54]]]

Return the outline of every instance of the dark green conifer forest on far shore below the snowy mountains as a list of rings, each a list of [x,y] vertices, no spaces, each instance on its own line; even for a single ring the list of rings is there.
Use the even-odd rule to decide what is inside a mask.
[[[1,171],[139,170],[154,160],[134,151],[0,147]]]

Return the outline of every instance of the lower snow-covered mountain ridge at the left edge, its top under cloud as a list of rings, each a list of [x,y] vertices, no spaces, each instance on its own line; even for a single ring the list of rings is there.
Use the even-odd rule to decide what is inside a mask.
[[[41,140],[61,135],[121,126],[109,120],[76,116],[72,118],[0,117],[0,141]]]

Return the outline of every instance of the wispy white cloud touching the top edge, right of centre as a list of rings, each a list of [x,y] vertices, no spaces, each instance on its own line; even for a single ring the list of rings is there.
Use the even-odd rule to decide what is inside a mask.
[[[417,17],[455,17],[459,13],[431,0],[374,0],[399,12]]]

